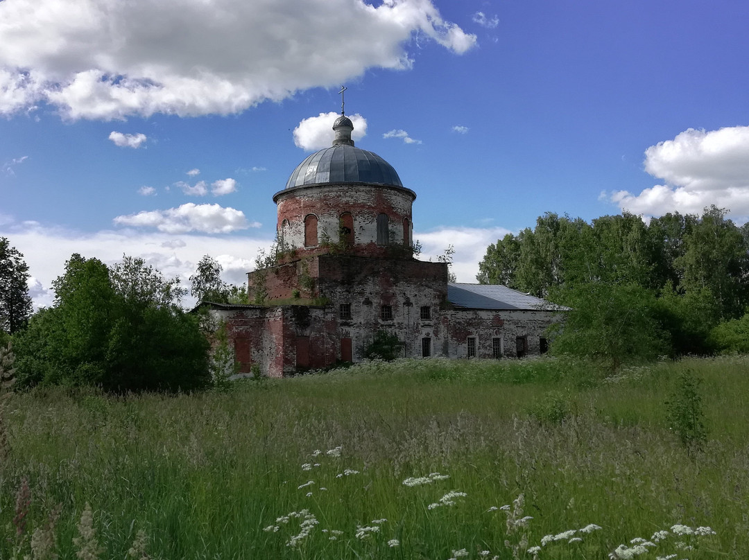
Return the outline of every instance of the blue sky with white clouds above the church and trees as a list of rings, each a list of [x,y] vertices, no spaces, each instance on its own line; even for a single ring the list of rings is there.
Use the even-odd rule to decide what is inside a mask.
[[[416,192],[422,259],[546,212],[749,216],[744,0],[0,0],[0,237],[246,280],[341,111]],[[189,305],[189,299],[186,305]]]

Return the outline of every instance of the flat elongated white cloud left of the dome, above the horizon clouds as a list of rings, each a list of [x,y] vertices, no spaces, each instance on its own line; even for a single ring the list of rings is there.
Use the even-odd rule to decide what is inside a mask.
[[[244,213],[219,204],[182,204],[168,210],[143,210],[137,214],[117,216],[115,225],[136,228],[156,228],[167,234],[200,231],[206,234],[228,234],[247,228],[259,228],[258,222],[248,222]]]

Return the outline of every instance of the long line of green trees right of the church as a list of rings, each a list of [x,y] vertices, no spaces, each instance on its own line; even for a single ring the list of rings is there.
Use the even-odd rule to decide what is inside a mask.
[[[648,223],[622,213],[588,223],[545,213],[507,234],[479,264],[506,284],[571,308],[557,352],[628,357],[749,351],[749,225],[715,206]]]

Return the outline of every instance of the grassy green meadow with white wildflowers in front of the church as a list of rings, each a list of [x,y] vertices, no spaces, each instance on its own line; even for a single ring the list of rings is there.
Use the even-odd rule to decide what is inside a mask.
[[[748,371],[430,359],[11,394],[0,558],[746,559]],[[685,372],[689,445],[669,413]]]

